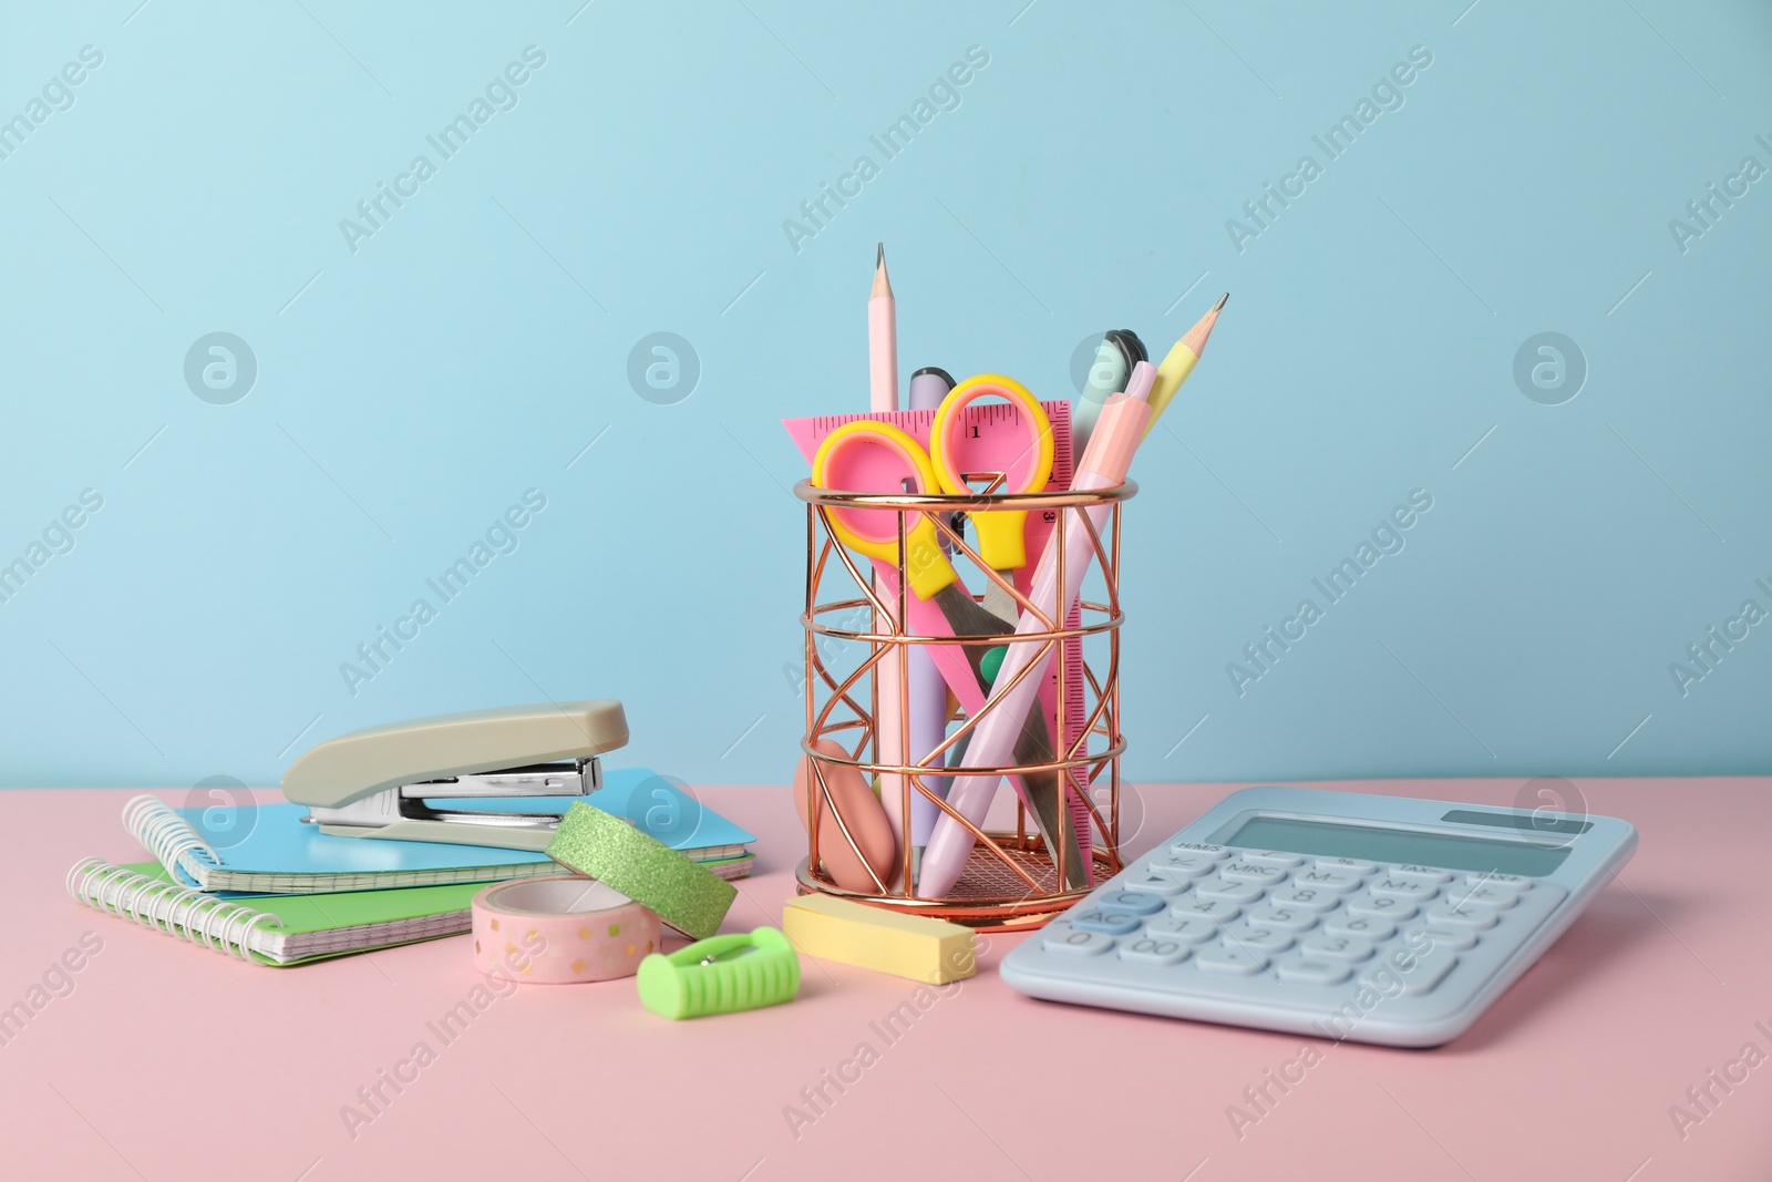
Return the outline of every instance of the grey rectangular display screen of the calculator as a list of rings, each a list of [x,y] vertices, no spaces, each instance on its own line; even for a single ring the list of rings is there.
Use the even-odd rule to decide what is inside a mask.
[[[1533,845],[1419,829],[1380,829],[1340,820],[1299,820],[1295,817],[1251,817],[1223,838],[1244,849],[1281,849],[1288,854],[1318,858],[1364,858],[1368,861],[1407,861],[1476,874],[1522,874],[1543,877],[1568,858],[1566,845]]]

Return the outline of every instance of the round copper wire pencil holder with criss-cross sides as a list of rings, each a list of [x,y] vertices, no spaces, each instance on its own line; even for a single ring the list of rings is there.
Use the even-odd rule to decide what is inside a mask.
[[[909,728],[898,728],[898,750],[881,751],[879,727],[879,686],[875,668],[891,661],[898,666],[898,718],[909,714],[909,654],[916,645],[982,645],[996,647],[1005,643],[1005,636],[929,636],[907,627],[911,579],[904,569],[905,535],[918,523],[921,514],[936,523],[937,535],[950,551],[955,569],[969,588],[978,590],[985,579],[996,583],[1015,599],[1015,610],[1026,611],[1033,604],[1015,590],[999,572],[991,571],[978,551],[966,540],[960,530],[953,528],[952,514],[976,516],[998,510],[1026,510],[1053,523],[1060,553],[1060,587],[1063,585],[1063,551],[1069,530],[1086,530],[1093,549],[1093,587],[1084,583],[1084,595],[1069,620],[1054,620],[1040,613],[1045,627],[1037,633],[1024,633],[1017,642],[1044,642],[1047,647],[1037,657],[1037,665],[1045,665],[1053,654],[1056,668],[1058,718],[1047,719],[1051,727],[1053,758],[1040,764],[1008,764],[1001,767],[968,769],[1001,773],[1017,776],[1022,773],[1056,773],[1058,783],[1067,785],[1065,799],[1060,806],[1074,806],[1081,801],[1086,806],[1088,826],[1079,829],[1083,856],[1090,859],[1090,872],[1095,883],[1102,883],[1118,874],[1120,861],[1120,753],[1125,739],[1120,734],[1120,626],[1125,617],[1120,610],[1120,510],[1122,503],[1138,494],[1138,486],[1131,480],[1088,491],[1047,491],[1019,494],[879,494],[849,493],[838,489],[820,489],[810,480],[794,486],[794,496],[806,503],[806,610],[801,615],[801,627],[806,638],[806,732],[801,739],[801,751],[810,757],[806,776],[806,858],[797,867],[799,891],[822,891],[856,902],[890,907],[909,914],[927,914],[953,923],[964,923],[978,930],[1024,930],[1038,927],[1060,914],[1077,898],[1086,895],[1090,886],[1063,886],[1067,865],[1063,845],[1058,851],[1047,849],[1047,842],[1038,831],[1030,828],[1028,805],[1008,785],[998,790],[1015,797],[1014,829],[985,829],[973,824],[943,799],[932,787],[952,783],[955,769],[944,760],[955,744],[971,734],[973,727],[992,707],[987,702],[976,718],[957,714],[957,727],[950,727],[944,741],[929,753],[913,755],[909,750]],[[1084,509],[1108,505],[1108,525],[1097,532],[1084,516]],[[898,521],[898,564],[897,595],[886,595],[874,578],[874,562],[847,549],[831,530],[831,509],[870,509],[897,514]],[[975,533],[976,535],[976,533]],[[1030,546],[1028,562],[1035,564],[1038,551]],[[1099,592],[1100,599],[1090,594]],[[975,595],[975,599],[980,599]],[[1005,627],[1005,631],[1010,631]],[[1077,661],[1067,661],[1067,643]],[[843,659],[847,657],[847,659]],[[854,665],[854,668],[845,668]],[[1067,668],[1074,665],[1076,668]],[[1069,711],[1074,704],[1076,686],[1081,677],[1081,709]],[[946,689],[943,689],[946,693]],[[1067,696],[1072,695],[1072,696]],[[836,758],[815,750],[822,739],[831,739],[843,748],[847,758]],[[842,815],[831,797],[826,769],[849,766],[865,778],[879,776],[881,785],[890,783],[890,776],[898,776],[902,824],[897,833],[897,865],[890,875],[868,870],[874,879],[868,891],[849,891],[840,888],[822,870],[819,861],[820,824],[829,817],[838,829],[835,840],[845,842],[856,858],[867,865],[854,835],[843,824]],[[941,774],[934,774],[943,769]],[[953,817],[957,824],[971,829],[976,838],[966,872],[953,890],[943,898],[916,895],[911,886],[911,845],[913,845],[913,794],[921,794],[941,810],[941,815]],[[819,808],[822,796],[824,806]],[[829,812],[826,812],[829,810]],[[1076,808],[1081,813],[1081,808]]]

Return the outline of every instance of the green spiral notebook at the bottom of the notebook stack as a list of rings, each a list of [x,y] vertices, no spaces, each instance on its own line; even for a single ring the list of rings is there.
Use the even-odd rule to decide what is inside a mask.
[[[87,858],[67,891],[99,911],[257,964],[289,966],[353,952],[455,936],[471,927],[484,883],[400,886],[331,895],[206,895],[181,886],[158,861],[112,865]]]

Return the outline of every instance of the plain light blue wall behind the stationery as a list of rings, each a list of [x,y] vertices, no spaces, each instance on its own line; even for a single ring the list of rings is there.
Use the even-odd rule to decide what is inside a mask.
[[[269,783],[377,721],[604,695],[636,762],[783,780],[776,420],[865,400],[877,239],[905,372],[1042,393],[1086,335],[1161,351],[1232,291],[1127,516],[1132,778],[1767,771],[1772,624],[1669,672],[1772,610],[1772,181],[1669,230],[1772,167],[1765,5],[136,2],[0,18],[0,117],[103,53],[0,161],[0,562],[103,496],[0,604],[5,783]],[[516,108],[441,161],[526,46]],[[960,106],[884,161],[969,46]],[[1329,161],[1311,136],[1412,46]],[[353,252],[340,220],[420,152]],[[859,154],[881,175],[794,250]],[[257,360],[232,404],[184,377],[213,331]],[[654,331],[700,358],[675,404],[627,379]],[[1540,331],[1588,367],[1558,406],[1513,376]],[[351,693],[526,489],[517,549]],[[1239,696],[1242,645],[1412,489],[1407,548]]]

